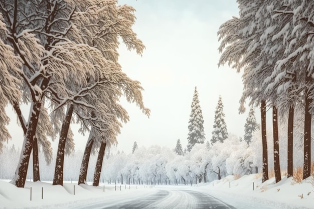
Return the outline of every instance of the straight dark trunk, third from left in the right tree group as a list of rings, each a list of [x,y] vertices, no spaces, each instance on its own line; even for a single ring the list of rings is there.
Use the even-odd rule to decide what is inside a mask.
[[[294,120],[294,107],[290,106],[288,116],[287,177],[293,176],[293,120]]]

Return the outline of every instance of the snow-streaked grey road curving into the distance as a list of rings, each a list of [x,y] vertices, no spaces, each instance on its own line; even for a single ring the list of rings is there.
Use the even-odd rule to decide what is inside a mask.
[[[98,208],[98,207],[97,207]],[[236,209],[209,194],[186,189],[158,189],[156,193],[124,200],[103,209]]]

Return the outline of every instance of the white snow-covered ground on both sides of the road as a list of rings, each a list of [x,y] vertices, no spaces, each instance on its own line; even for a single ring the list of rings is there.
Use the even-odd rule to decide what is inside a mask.
[[[110,206],[136,198],[145,198],[160,190],[180,190],[169,192],[169,195],[180,195],[182,190],[195,190],[214,196],[227,204],[241,208],[274,209],[274,208],[314,208],[314,187],[312,178],[301,183],[294,183],[292,178],[284,177],[275,184],[274,178],[261,183],[256,175],[243,176],[234,179],[227,176],[222,180],[210,183],[200,183],[197,186],[167,186],[156,185],[120,185],[101,184],[98,187],[83,185],[75,182],[65,182],[64,186],[52,186],[51,182],[26,182],[25,188],[17,188],[8,180],[0,180],[0,208],[93,208],[99,204]],[[254,190],[253,190],[254,183]],[[75,195],[74,195],[75,186]],[[103,191],[105,186],[105,191]],[[31,200],[32,187],[32,200]],[[43,189],[43,199],[42,199]],[[302,198],[301,198],[302,197]],[[169,196],[169,203],[172,199]],[[167,201],[157,203],[158,208],[165,208]],[[194,203],[195,204],[195,203]]]

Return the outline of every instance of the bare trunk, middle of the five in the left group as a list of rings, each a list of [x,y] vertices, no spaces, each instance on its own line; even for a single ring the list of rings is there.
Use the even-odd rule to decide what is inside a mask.
[[[65,119],[62,123],[61,133],[58,144],[57,158],[56,158],[56,167],[55,167],[55,175],[52,185],[63,185],[63,164],[64,164],[64,152],[65,152],[65,144],[68,137],[68,131],[71,123],[71,118],[73,114],[74,106],[70,105],[68,108]]]

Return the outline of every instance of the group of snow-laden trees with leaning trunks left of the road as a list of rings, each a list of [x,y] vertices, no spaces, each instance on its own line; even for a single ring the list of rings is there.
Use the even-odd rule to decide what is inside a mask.
[[[141,55],[144,45],[132,31],[134,9],[117,1],[18,1],[0,3],[0,151],[10,139],[5,107],[14,108],[24,142],[13,183],[24,187],[33,154],[34,181],[40,180],[41,147],[52,160],[49,138],[59,137],[54,185],[63,184],[65,154],[74,151],[71,122],[88,133],[79,183],[85,183],[89,157],[98,151],[98,185],[104,150],[129,117],[119,98],[136,103],[143,114],[141,87],[118,63],[119,41]],[[21,105],[27,104],[27,113]]]

